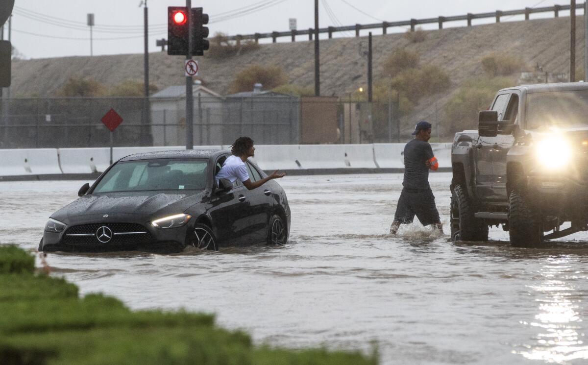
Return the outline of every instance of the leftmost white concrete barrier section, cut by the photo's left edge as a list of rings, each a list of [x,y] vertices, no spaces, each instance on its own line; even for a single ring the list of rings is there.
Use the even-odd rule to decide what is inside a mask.
[[[0,176],[61,174],[57,150],[0,149]]]

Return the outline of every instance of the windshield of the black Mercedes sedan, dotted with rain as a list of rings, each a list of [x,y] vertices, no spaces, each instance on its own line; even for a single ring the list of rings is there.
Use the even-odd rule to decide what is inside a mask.
[[[149,190],[204,190],[206,160],[152,159],[119,162],[100,180],[93,193]]]

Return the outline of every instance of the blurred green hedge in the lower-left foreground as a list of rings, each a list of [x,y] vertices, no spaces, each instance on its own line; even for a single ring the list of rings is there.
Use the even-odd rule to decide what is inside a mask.
[[[211,314],[132,311],[102,294],[78,297],[63,279],[34,274],[34,257],[0,246],[2,365],[375,365],[377,354],[253,346]]]

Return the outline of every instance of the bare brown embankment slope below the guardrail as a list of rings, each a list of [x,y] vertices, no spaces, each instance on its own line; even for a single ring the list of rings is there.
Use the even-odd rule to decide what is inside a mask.
[[[426,31],[423,42],[411,43],[403,34],[378,35],[373,38],[374,79],[385,78],[383,62],[395,49],[407,48],[420,54],[422,65],[439,66],[451,78],[449,91],[420,100],[410,115],[403,118],[404,129],[415,120],[442,120],[444,105],[460,85],[483,73],[482,58],[493,52],[520,56],[532,70],[539,63],[544,71],[569,71],[569,17],[503,22],[463,28]],[[583,65],[584,21],[577,17],[577,65]],[[214,32],[215,29],[212,29]],[[366,31],[362,35],[367,35]],[[299,36],[303,39],[303,36]],[[154,46],[150,45],[152,49]],[[345,96],[367,83],[368,39],[338,38],[321,40],[321,93],[325,96]],[[260,48],[221,61],[201,57],[201,77],[213,91],[225,94],[235,74],[244,67],[259,63],[279,65],[289,82],[314,88],[313,42],[285,42],[260,45]],[[159,89],[182,85],[183,58],[153,52],[149,57],[151,82]],[[107,88],[122,80],[143,78],[143,55],[111,55],[95,57],[66,57],[15,61],[12,68],[12,95],[51,96],[71,76],[83,76],[101,82]],[[516,76],[513,77],[513,83]],[[490,101],[489,101],[490,102]],[[442,126],[443,128],[443,126]],[[434,133],[435,135],[435,130]],[[443,130],[440,131],[443,134]]]

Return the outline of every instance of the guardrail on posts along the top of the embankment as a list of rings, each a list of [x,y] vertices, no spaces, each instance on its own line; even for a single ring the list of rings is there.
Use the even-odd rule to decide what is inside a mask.
[[[584,9],[585,3],[576,4],[576,9]],[[393,28],[395,26],[410,26],[410,31],[414,32],[415,27],[420,24],[438,24],[439,29],[443,29],[443,23],[446,22],[456,22],[456,21],[467,21],[467,26],[472,26],[473,19],[487,19],[487,18],[495,18],[497,23],[500,23],[500,18],[502,16],[513,16],[513,15],[524,15],[525,20],[529,20],[531,14],[537,13],[545,13],[545,12],[553,12],[554,17],[557,18],[559,16],[560,11],[570,10],[572,8],[571,5],[554,5],[554,6],[544,6],[541,8],[524,8],[518,10],[509,10],[509,11],[494,11],[494,12],[486,12],[486,13],[479,13],[479,14],[472,14],[467,13],[466,15],[456,15],[456,16],[437,16],[436,18],[425,18],[425,19],[409,19],[406,21],[398,21],[398,22],[382,22],[382,23],[373,23],[373,24],[355,24],[355,25],[346,25],[346,26],[328,26],[326,28],[319,28],[319,33],[326,33],[329,34],[329,39],[333,38],[333,33],[336,32],[348,32],[348,31],[355,31],[355,36],[359,37],[359,31],[364,29],[379,29],[382,28],[382,33],[386,34],[387,28]],[[246,35],[232,35],[228,36],[230,41],[243,41],[253,39],[255,42],[259,42],[259,39],[263,38],[272,38],[272,42],[276,43],[276,40],[281,37],[289,36],[292,38],[292,42],[296,42],[297,35],[308,35],[309,41],[312,41],[312,35],[315,33],[314,28],[304,29],[304,30],[296,30],[296,31],[285,31],[285,32],[269,32],[269,33],[253,33],[253,34],[246,34]]]

